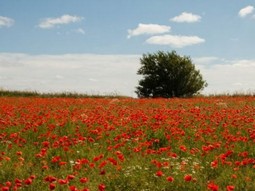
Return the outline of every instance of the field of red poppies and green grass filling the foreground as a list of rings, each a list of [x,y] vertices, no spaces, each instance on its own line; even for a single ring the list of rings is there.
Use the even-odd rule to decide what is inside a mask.
[[[255,190],[255,97],[0,98],[0,190]]]

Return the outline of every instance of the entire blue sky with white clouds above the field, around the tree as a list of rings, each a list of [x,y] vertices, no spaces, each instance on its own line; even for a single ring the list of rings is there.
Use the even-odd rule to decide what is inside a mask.
[[[254,0],[0,0],[0,88],[134,96],[143,53],[190,56],[204,93],[254,91]]]

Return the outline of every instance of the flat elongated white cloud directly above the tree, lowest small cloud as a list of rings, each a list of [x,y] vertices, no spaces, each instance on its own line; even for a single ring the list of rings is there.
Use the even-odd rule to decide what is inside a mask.
[[[180,35],[160,35],[152,36],[146,40],[148,44],[169,45],[175,48],[195,45],[205,42],[198,36],[180,36]]]

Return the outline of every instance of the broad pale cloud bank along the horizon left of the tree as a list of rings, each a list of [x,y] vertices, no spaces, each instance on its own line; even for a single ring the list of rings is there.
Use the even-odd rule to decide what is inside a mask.
[[[0,53],[0,88],[135,96],[139,55]]]

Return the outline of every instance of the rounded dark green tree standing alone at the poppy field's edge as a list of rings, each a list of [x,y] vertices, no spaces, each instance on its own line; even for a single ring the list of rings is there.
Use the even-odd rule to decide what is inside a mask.
[[[138,97],[190,97],[207,86],[190,57],[176,51],[144,54],[138,75],[143,75],[136,87]]]

